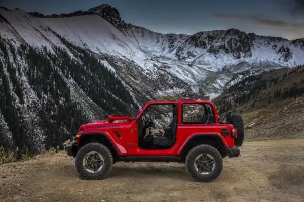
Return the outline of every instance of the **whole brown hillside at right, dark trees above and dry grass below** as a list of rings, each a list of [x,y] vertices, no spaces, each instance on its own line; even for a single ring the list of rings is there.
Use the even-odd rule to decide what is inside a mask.
[[[303,137],[304,66],[252,75],[214,99],[221,119],[241,113],[247,140]]]

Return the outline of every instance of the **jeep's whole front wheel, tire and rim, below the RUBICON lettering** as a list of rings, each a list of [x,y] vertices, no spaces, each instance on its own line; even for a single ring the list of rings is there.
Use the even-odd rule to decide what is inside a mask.
[[[105,178],[112,169],[111,151],[100,143],[89,143],[81,147],[75,158],[75,166],[82,179]]]

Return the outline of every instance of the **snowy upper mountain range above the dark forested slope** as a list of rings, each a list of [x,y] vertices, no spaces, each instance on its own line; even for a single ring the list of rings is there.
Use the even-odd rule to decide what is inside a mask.
[[[231,74],[237,72],[304,64],[304,39],[288,41],[237,29],[199,32],[192,36],[155,33],[124,22],[118,10],[107,4],[88,11],[48,16],[3,10],[3,16],[30,45],[60,46],[52,33],[55,32],[97,54],[128,58],[154,79],[156,72],[166,67],[166,72],[191,84],[196,91],[198,83],[204,83],[210,73],[226,75],[221,82],[213,80],[214,90],[207,89],[207,94],[219,94],[223,84],[232,78]]]

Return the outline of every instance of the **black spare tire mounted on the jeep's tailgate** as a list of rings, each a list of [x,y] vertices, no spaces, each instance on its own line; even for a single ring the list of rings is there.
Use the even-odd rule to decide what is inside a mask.
[[[242,146],[244,141],[244,124],[241,115],[239,114],[230,114],[229,119],[227,118],[235,129],[237,129],[237,138],[235,139],[236,146]]]

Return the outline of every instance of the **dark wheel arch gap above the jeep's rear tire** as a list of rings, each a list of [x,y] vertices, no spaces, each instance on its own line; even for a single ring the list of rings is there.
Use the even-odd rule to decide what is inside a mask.
[[[179,155],[186,156],[187,153],[199,144],[208,144],[215,147],[222,157],[227,155],[226,144],[224,140],[217,134],[196,134],[190,137],[179,151]]]

